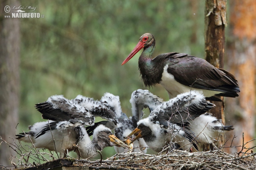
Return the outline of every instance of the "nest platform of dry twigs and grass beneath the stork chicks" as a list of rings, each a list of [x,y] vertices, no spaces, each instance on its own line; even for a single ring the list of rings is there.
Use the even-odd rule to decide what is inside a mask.
[[[256,153],[245,153],[236,156],[225,153],[221,149],[195,153],[173,150],[173,152],[163,155],[122,153],[102,161],[76,160],[73,165],[124,170],[255,170]]]

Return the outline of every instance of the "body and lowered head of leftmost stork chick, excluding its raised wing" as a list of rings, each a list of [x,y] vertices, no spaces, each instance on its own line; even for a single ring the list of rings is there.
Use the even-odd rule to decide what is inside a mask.
[[[128,146],[113,135],[104,125],[93,131],[93,140],[88,136],[81,120],[55,122],[37,122],[29,126],[29,132],[16,135],[16,139],[27,143],[33,142],[36,148],[44,148],[60,153],[66,157],[68,152],[75,151],[79,159],[96,156],[97,150],[108,146]],[[54,139],[54,140],[53,140]]]

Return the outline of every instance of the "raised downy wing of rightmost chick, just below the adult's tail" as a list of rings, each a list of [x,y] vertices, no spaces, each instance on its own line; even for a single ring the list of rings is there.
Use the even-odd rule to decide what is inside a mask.
[[[169,122],[182,125],[187,124],[189,120],[194,120],[212,107],[215,105],[208,102],[203,95],[191,91],[163,102],[150,115],[164,126],[168,126]]]

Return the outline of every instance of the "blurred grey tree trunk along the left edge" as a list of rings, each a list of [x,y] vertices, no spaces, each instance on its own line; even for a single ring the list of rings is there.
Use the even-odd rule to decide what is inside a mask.
[[[15,127],[18,121],[19,104],[19,65],[20,65],[20,26],[19,18],[4,11],[5,6],[19,6],[17,0],[2,0],[0,2],[0,136],[7,142],[9,137],[15,137]],[[15,151],[2,143],[0,145],[0,164],[10,165],[10,156]]]

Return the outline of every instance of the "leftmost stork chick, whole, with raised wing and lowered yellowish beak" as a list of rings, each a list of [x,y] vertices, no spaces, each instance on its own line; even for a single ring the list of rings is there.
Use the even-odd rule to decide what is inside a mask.
[[[104,125],[99,125],[93,130],[93,140],[90,140],[84,126],[93,125],[94,116],[104,117],[115,124],[114,113],[104,102],[81,95],[69,100],[59,95],[51,96],[46,102],[38,103],[35,107],[49,122],[37,122],[29,126],[30,131],[16,135],[16,139],[33,142],[36,148],[60,152],[61,157],[74,150],[82,159],[92,157],[96,155],[97,150],[108,146],[128,148]]]

